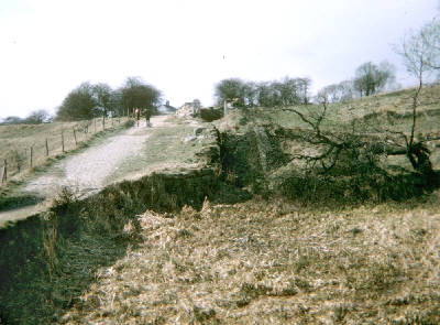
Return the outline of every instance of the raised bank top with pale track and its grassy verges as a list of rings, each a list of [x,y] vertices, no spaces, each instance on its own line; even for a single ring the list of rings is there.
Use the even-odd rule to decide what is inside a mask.
[[[42,167],[26,170],[20,182],[2,188],[0,225],[46,210],[64,189],[84,198],[123,180],[200,165],[201,160],[194,156],[206,145],[199,123],[167,116],[153,117],[151,122],[150,128],[141,121],[139,127],[123,131],[117,127],[118,132],[94,134],[74,151],[48,160]]]

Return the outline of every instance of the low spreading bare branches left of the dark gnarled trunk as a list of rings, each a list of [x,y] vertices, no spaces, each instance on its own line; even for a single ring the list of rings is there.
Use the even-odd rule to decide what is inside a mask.
[[[284,108],[296,113],[306,126],[295,138],[306,142],[307,147],[294,159],[305,161],[308,172],[329,174],[336,167],[339,174],[346,175],[384,172],[378,164],[381,155],[405,153],[385,139],[359,128],[355,120],[342,131],[329,128],[329,104],[326,98],[321,99],[320,105],[312,106],[307,112]]]

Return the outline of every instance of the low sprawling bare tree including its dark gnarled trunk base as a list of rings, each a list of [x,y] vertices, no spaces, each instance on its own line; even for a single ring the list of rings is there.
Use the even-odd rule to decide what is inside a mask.
[[[356,119],[352,119],[348,124],[339,122],[339,127],[336,128],[334,120],[329,118],[327,101],[302,110],[283,109],[297,115],[305,126],[292,130],[289,136],[306,144],[293,155],[294,160],[305,163],[304,182],[310,181],[312,184],[314,180],[320,180],[319,182],[323,182],[321,185],[328,186],[329,181],[353,180],[355,184],[363,184],[361,187],[376,188],[380,195],[383,193],[381,187],[386,184],[384,180],[393,180],[391,171],[407,172],[400,166],[389,166],[386,158],[391,155],[407,156],[426,185],[430,186],[437,180],[429,162],[429,151],[426,151],[421,142],[415,142],[409,148],[409,143],[403,141],[402,136],[405,134],[402,132],[381,130],[381,127]],[[298,172],[300,166],[301,164],[298,164]],[[405,192],[405,188],[403,189]]]

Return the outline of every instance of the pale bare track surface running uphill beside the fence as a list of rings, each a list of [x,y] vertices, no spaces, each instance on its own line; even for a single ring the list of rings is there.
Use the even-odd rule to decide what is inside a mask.
[[[170,127],[166,119],[167,116],[153,117],[151,128],[146,128],[145,121],[141,121],[139,127],[130,128],[121,134],[107,139],[102,144],[66,158],[31,181],[23,191],[46,199],[57,195],[63,187],[70,188],[80,197],[95,193],[112,183],[112,175],[121,174],[119,167],[127,160],[142,154],[145,141],[157,128]],[[0,213],[0,221],[22,218],[43,208],[40,205],[3,212]]]

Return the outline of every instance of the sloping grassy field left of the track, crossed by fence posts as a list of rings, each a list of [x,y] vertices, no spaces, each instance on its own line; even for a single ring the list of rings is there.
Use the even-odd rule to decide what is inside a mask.
[[[76,122],[0,126],[0,224],[35,212],[45,191],[25,191],[28,183],[89,145],[107,141],[132,124],[128,118]],[[4,162],[7,173],[4,175]],[[48,185],[48,184],[47,184]],[[62,184],[54,184],[56,191]],[[70,184],[72,185],[72,184]],[[21,210],[16,210],[21,208]]]

